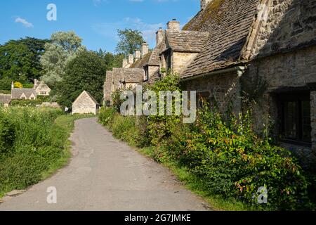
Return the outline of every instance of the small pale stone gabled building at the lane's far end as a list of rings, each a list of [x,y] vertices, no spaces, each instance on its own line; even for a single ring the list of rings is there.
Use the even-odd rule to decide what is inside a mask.
[[[89,114],[97,115],[99,111],[99,103],[88,91],[83,91],[78,98],[72,103],[72,115]]]

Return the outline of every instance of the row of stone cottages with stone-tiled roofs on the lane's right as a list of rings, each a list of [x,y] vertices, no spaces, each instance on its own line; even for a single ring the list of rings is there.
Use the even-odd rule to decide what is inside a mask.
[[[197,91],[225,113],[251,108],[258,134],[272,124],[281,146],[301,158],[316,155],[316,0],[201,0],[182,30],[171,20],[157,32],[148,56],[124,66],[143,68],[143,82],[178,73],[183,89]],[[158,57],[156,57],[158,56]],[[112,73],[112,76],[111,76]],[[105,99],[120,86],[109,72]],[[127,75],[127,74],[126,74]],[[130,76],[130,75],[129,75]],[[114,83],[110,82],[116,81]],[[137,80],[137,79],[136,79]]]

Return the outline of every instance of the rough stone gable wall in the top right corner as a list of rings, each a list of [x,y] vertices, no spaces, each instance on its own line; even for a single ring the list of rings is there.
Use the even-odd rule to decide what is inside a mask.
[[[268,0],[268,20],[260,20],[251,58],[316,44],[316,0]]]

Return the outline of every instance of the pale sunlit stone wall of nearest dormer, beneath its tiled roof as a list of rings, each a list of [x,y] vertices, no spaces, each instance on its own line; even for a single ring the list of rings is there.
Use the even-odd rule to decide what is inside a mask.
[[[192,60],[197,56],[198,53],[183,53],[183,52],[173,52],[172,57],[172,67],[173,72],[181,73],[187,65],[190,65]]]

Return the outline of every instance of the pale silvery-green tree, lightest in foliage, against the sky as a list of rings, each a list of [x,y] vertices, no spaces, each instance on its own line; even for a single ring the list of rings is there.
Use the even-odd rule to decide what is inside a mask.
[[[45,53],[41,56],[44,76],[41,77],[48,85],[54,87],[62,81],[67,63],[86,48],[82,39],[74,32],[56,32],[51,35],[51,42],[45,44]]]

